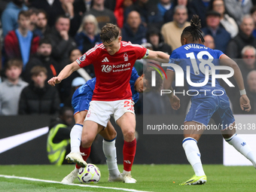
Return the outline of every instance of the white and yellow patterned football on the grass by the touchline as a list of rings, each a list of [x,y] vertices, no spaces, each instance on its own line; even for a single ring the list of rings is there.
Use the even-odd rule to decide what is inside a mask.
[[[83,183],[97,183],[100,179],[99,168],[88,163],[87,167],[81,167],[78,171],[78,180]]]

